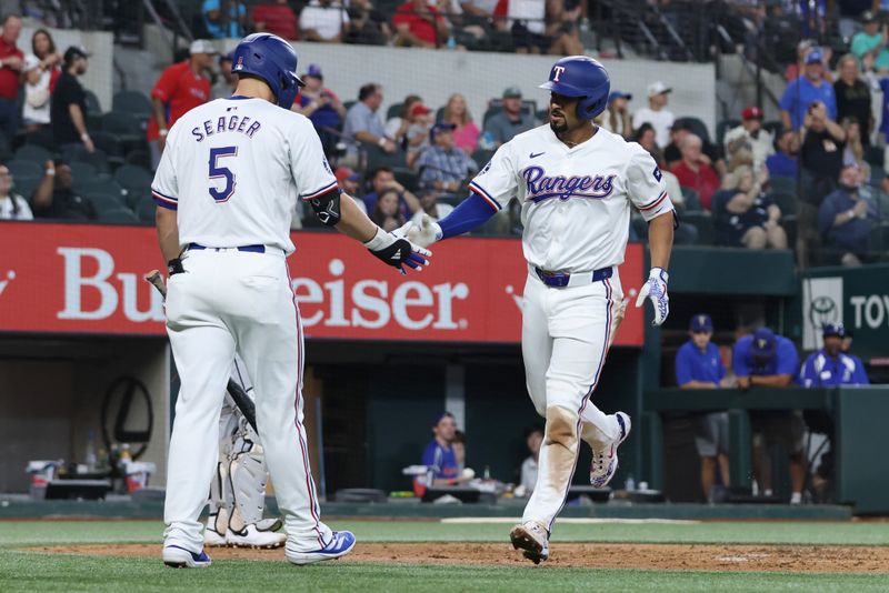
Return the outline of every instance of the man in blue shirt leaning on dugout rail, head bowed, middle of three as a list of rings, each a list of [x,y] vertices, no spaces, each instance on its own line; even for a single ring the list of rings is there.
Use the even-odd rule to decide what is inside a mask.
[[[752,335],[740,338],[735,344],[732,366],[742,390],[752,386],[783,388],[793,382],[799,372],[799,355],[793,342],[783,335],[776,335],[768,328],[760,328]],[[790,458],[790,502],[799,504],[802,500],[802,485],[806,481],[806,464],[802,459],[802,419],[796,412],[761,413],[753,419],[753,432],[761,433],[766,448],[783,444]],[[753,461],[761,466],[761,483],[767,496],[771,491],[771,466],[762,446],[755,446]],[[760,464],[759,461],[762,463]]]

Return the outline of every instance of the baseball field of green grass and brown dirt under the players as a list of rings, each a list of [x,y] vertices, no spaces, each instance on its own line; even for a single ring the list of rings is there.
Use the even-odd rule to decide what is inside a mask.
[[[210,549],[207,570],[160,561],[154,521],[0,522],[0,591],[887,591],[889,522],[566,520],[535,566],[500,519],[332,520],[339,561]]]

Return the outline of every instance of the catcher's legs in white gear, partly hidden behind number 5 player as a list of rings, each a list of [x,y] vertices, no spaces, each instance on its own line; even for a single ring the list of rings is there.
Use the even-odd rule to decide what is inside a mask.
[[[253,386],[243,361],[234,355],[231,380],[251,400]],[[210,516],[203,543],[210,546],[278,547],[287,535],[279,519],[262,519],[268,469],[262,443],[234,400],[226,394],[219,416],[219,462],[210,481]]]

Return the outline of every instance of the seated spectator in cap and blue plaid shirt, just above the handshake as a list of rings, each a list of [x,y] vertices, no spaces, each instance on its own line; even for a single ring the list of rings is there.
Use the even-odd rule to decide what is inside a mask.
[[[478,171],[479,167],[466,152],[453,145],[452,123],[436,123],[429,135],[431,144],[416,161],[420,188],[455,195],[469,174]]]

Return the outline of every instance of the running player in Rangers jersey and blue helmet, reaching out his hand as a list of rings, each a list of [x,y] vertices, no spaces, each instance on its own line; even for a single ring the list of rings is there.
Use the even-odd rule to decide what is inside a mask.
[[[605,110],[608,72],[582,56],[559,60],[541,84],[550,94],[549,125],[521,133],[495,153],[444,219],[424,218],[408,238],[427,247],[461,234],[521,203],[522,247],[528,260],[522,314],[522,355],[528,392],[546,419],[537,486],[510,539],[539,563],[565,504],[579,441],[592,448],[590,482],[603,488],[618,466],[617,449],[630,432],[623,412],[605,414],[590,396],[622,318],[618,265],[623,261],[630,205],[649,222],[651,271],[637,306],[655,305],[655,324],[667,319],[667,264],[675,214],[661,172],[639,144],[597,128]]]

